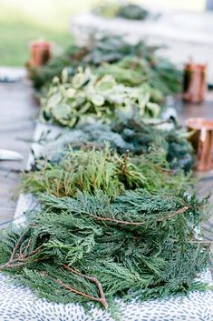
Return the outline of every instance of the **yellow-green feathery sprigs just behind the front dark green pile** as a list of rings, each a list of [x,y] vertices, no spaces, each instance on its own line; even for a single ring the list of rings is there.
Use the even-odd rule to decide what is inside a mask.
[[[38,159],[33,170],[22,176],[24,192],[48,191],[58,197],[75,196],[79,190],[94,194],[101,189],[114,198],[125,189],[143,187],[152,193],[160,189],[178,191],[190,183],[181,170],[172,172],[163,151],[119,156],[108,145],[103,150],[68,148],[61,155]]]

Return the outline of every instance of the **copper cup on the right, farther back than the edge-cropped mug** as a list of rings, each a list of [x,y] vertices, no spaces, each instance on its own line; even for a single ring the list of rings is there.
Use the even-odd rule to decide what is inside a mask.
[[[183,100],[201,103],[207,92],[207,65],[189,61],[184,69]]]

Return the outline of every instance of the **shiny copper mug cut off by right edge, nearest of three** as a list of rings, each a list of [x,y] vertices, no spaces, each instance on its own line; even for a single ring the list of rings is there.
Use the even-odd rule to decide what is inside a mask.
[[[197,153],[196,169],[208,171],[213,165],[213,119],[189,118],[186,125],[193,131],[189,140]]]

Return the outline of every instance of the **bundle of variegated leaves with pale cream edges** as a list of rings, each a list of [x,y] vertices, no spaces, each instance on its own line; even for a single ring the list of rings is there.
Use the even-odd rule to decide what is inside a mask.
[[[85,115],[113,119],[120,110],[128,114],[133,108],[143,118],[160,116],[160,105],[150,102],[147,87],[121,85],[112,75],[100,78],[89,68],[79,68],[71,81],[68,78],[66,69],[62,82],[58,77],[53,78],[53,85],[41,100],[44,121],[73,127]]]

